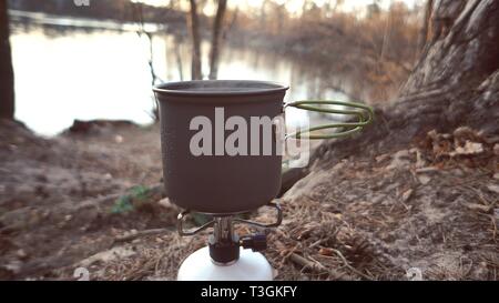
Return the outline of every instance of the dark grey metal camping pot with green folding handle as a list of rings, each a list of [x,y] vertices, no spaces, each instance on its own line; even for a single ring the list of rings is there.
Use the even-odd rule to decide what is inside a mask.
[[[246,80],[182,81],[156,85],[154,93],[160,109],[163,181],[170,201],[193,212],[230,215],[266,205],[278,194],[282,155],[275,152],[276,143],[272,147],[272,154],[251,154],[251,144],[257,143],[262,151],[265,142],[264,135],[249,142],[248,133],[247,154],[230,155],[224,150],[217,150],[225,147],[223,140],[236,130],[224,127],[231,117],[237,117],[240,122],[244,120],[248,125],[247,132],[252,128],[252,118],[279,117],[285,105],[336,114],[346,112],[359,118],[357,122],[315,127],[295,133],[295,138],[301,139],[349,134],[373,119],[370,108],[358,103],[298,101],[284,104],[287,89],[274,82]],[[355,109],[342,111],[312,105],[318,103],[346,104]],[[367,111],[367,117],[358,109]],[[197,141],[206,144],[210,151],[201,154],[198,151],[193,152],[192,140],[200,135],[202,125],[210,124],[211,129],[203,130],[207,137]],[[329,135],[312,134],[313,131],[327,128],[342,128],[342,131]],[[276,135],[275,128],[272,135]]]

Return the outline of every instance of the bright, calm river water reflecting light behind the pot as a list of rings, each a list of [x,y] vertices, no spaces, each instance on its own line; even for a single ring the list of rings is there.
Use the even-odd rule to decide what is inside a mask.
[[[72,19],[60,19],[58,24],[58,18],[29,17],[29,27],[12,24],[16,118],[39,134],[58,134],[74,119],[151,123],[154,105],[149,67],[151,49],[155,73],[162,81],[190,78],[186,39],[179,41],[171,34],[154,34],[150,43],[130,24],[116,29],[115,24],[109,27],[109,22],[89,20],[73,20],[77,23],[72,24]],[[85,22],[90,22],[89,27]],[[202,50],[203,73],[207,74],[208,44],[203,43]],[[285,101],[348,100],[343,92],[328,88],[324,77],[305,62],[251,49],[225,46],[218,79],[287,83],[291,89]],[[295,109],[286,111],[286,122],[291,124],[306,120],[318,123],[320,119]]]

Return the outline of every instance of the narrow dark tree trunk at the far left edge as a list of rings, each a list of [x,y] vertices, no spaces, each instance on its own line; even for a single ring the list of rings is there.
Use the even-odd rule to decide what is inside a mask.
[[[14,83],[7,0],[0,0],[0,119],[13,120]]]

